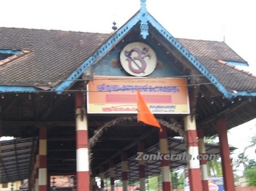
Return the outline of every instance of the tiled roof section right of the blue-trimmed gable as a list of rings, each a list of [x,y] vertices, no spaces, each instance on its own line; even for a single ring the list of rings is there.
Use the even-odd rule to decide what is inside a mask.
[[[225,42],[178,39],[227,90],[255,91],[256,77],[227,61],[247,63]]]

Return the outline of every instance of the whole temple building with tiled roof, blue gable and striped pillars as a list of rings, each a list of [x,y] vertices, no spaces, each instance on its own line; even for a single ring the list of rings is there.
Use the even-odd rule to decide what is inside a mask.
[[[145,0],[113,28],[0,28],[0,136],[14,137],[1,142],[1,183],[46,191],[67,176],[78,191],[103,191],[105,179],[143,191],[161,174],[169,191],[170,169],[187,167],[189,189],[208,191],[207,161],[220,155],[234,191],[227,130],[256,117],[248,63],[225,42],[175,38]],[[219,145],[204,143],[216,134]]]

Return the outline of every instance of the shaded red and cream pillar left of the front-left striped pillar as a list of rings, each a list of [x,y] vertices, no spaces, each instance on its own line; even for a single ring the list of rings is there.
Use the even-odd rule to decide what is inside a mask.
[[[47,127],[39,128],[39,191],[47,191]]]

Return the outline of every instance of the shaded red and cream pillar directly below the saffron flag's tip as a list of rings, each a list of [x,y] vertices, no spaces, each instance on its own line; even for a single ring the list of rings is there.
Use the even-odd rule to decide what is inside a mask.
[[[167,128],[162,127],[162,132],[159,132],[159,147],[160,154],[163,155],[161,160],[162,171],[162,190],[170,191],[170,160],[165,160],[165,155],[169,155],[167,143]]]

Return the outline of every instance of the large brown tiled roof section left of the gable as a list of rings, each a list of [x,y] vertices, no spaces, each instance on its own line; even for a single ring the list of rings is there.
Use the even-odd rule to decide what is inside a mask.
[[[53,85],[65,79],[109,34],[0,28],[0,49],[31,50],[0,66],[1,85]]]

